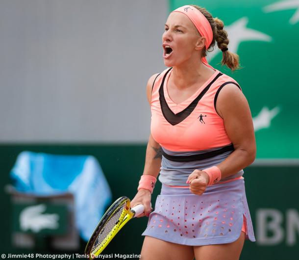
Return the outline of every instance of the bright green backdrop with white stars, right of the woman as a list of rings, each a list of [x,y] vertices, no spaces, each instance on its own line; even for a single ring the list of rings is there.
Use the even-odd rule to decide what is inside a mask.
[[[243,69],[231,73],[222,67],[217,46],[208,61],[242,87],[255,124],[257,158],[298,158],[299,1],[169,2],[170,11],[197,4],[224,21],[230,40],[228,50],[240,56]]]

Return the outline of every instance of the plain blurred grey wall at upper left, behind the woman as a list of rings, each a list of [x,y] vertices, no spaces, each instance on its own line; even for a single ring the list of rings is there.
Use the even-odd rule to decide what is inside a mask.
[[[145,142],[168,3],[0,2],[1,142]]]

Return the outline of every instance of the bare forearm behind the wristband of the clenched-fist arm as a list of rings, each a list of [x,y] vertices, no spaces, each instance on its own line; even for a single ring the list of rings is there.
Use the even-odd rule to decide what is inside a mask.
[[[249,166],[255,159],[255,149],[237,148],[223,162],[217,165],[221,171],[221,179],[236,174]]]

